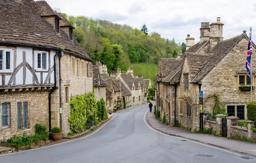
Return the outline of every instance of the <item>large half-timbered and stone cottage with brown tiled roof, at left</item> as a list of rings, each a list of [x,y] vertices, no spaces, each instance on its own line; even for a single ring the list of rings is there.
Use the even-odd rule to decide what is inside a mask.
[[[70,98],[92,91],[92,59],[45,1],[0,6],[0,139],[33,134],[36,123],[67,133]]]

